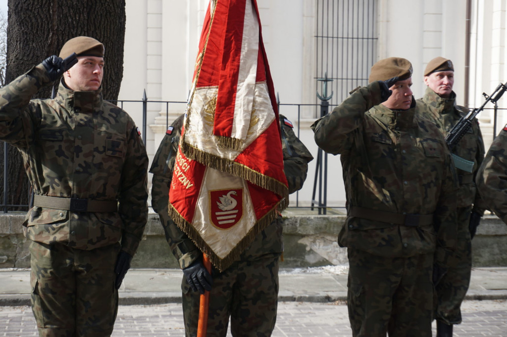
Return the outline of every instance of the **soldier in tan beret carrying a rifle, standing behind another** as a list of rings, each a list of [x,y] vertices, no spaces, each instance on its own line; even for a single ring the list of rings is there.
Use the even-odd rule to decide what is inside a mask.
[[[452,61],[436,57],[424,70],[428,86],[421,104],[421,114],[434,122],[442,134],[447,134],[468,109],[456,104],[454,66]],[[457,195],[458,236],[447,272],[435,287],[435,318],[437,336],[452,336],[453,324],[461,323],[461,302],[465,298],[472,270],[472,238],[487,205],[481,199],[475,177],[484,159],[484,141],[479,122],[474,118],[472,127],[453,149],[454,164],[459,180]]]

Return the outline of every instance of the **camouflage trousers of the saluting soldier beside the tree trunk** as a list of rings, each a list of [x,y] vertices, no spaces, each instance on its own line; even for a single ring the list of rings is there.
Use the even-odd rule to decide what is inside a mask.
[[[120,244],[82,250],[31,242],[31,306],[40,336],[109,336],[118,310]]]

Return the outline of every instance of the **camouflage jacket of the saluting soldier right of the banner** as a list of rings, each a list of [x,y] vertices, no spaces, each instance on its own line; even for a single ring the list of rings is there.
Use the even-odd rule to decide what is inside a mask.
[[[380,102],[379,83],[373,82],[312,125],[317,145],[341,154],[347,220],[338,242],[385,257],[410,257],[437,248],[437,261],[447,264],[456,244],[458,188],[447,145],[439,130],[415,113],[415,101],[406,111],[390,110]],[[357,207],[361,213],[352,216]],[[432,224],[395,224],[369,212],[425,215]]]

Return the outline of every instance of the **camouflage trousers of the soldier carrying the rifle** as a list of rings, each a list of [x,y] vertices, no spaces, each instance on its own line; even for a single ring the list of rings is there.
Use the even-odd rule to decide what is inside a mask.
[[[435,288],[435,318],[446,324],[461,323],[463,302],[472,271],[472,240],[468,222],[472,207],[458,208],[458,240],[449,269]]]

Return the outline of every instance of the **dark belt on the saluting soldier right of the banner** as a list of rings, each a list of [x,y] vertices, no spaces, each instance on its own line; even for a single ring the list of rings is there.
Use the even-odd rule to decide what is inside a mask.
[[[404,225],[404,226],[424,226],[433,224],[433,215],[432,214],[398,214],[391,212],[384,212],[383,210],[365,208],[365,207],[357,207],[352,206],[349,212],[349,216],[372,220],[372,221],[381,221],[387,222],[396,225]]]

